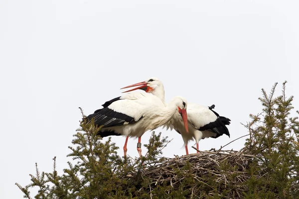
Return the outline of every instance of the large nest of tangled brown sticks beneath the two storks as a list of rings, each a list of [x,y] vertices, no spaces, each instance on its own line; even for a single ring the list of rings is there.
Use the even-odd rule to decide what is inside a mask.
[[[246,148],[240,151],[218,150],[175,156],[151,162],[140,171],[149,179],[149,187],[140,190],[150,194],[154,189],[187,191],[188,198],[241,198],[247,190],[244,182],[249,178],[248,167],[254,156]]]

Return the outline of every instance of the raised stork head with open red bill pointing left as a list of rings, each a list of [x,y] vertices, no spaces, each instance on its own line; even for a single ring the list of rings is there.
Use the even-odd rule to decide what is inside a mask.
[[[149,78],[144,82],[136,83],[121,89],[127,89],[131,87],[136,87],[136,88],[125,91],[123,93],[141,89],[147,93],[151,93],[152,95],[157,96],[158,98],[164,101],[164,86],[163,83],[158,78]]]

